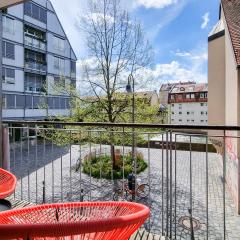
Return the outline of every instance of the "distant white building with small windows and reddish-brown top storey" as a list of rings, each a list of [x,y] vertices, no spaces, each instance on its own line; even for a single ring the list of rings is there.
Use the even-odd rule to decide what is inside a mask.
[[[170,123],[181,125],[207,125],[207,84],[178,84],[169,92]]]

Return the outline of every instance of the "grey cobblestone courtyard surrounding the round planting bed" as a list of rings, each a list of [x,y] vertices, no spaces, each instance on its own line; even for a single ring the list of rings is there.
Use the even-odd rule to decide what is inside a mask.
[[[130,151],[130,148],[119,149],[124,152]],[[90,150],[101,154],[108,154],[110,151],[108,146],[93,144],[82,146],[81,150],[78,145],[57,147],[41,143],[38,146],[33,144],[29,149],[24,145],[12,149],[11,169],[20,179],[16,198],[42,203],[42,182],[45,180],[46,202],[112,200],[114,189],[118,187],[119,182],[94,179],[75,170],[80,153],[83,158]],[[188,217],[192,203],[195,239],[223,239],[221,156],[209,153],[206,159],[206,153],[192,152],[190,161],[190,152],[187,151],[172,151],[172,154],[161,149],[138,151],[144,154],[148,168],[137,178],[141,183],[148,183],[151,188],[149,198],[136,198],[136,201],[143,202],[151,208],[151,217],[145,228],[158,235],[166,232],[170,234],[171,231],[173,239],[175,236],[176,239],[191,239]],[[209,179],[208,204],[206,166]],[[186,223],[185,227],[182,222]],[[239,239],[239,226],[240,217],[236,215],[234,204],[226,190],[227,239]]]

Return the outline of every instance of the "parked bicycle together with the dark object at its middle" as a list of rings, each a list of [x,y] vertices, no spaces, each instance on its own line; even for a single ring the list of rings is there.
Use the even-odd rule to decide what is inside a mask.
[[[129,200],[129,196],[145,198],[149,196],[150,187],[147,183],[139,184],[141,180],[135,180],[134,175],[129,175],[128,180],[121,181],[121,188],[113,194],[114,201]],[[136,185],[136,187],[135,187]]]

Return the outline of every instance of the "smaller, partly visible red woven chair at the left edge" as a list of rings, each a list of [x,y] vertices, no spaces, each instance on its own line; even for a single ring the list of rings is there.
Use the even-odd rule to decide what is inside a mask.
[[[17,179],[12,173],[0,168],[0,199],[10,196],[15,190],[16,183]]]

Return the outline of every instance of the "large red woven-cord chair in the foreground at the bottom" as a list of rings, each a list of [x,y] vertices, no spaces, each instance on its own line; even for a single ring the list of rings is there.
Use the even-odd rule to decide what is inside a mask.
[[[127,240],[149,217],[132,202],[81,202],[0,213],[0,239]]]

